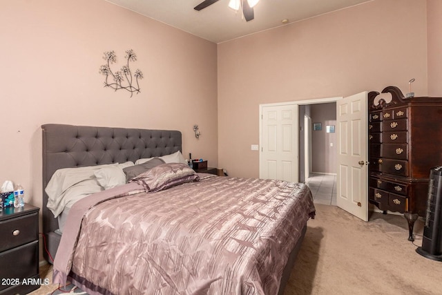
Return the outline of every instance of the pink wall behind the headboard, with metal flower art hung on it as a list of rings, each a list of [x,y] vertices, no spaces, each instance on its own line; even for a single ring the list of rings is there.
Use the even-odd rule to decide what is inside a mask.
[[[177,129],[184,156],[218,162],[217,48],[104,0],[2,1],[0,182],[41,206],[41,124]],[[104,88],[103,53],[133,49],[141,93]],[[193,133],[200,126],[200,139]]]

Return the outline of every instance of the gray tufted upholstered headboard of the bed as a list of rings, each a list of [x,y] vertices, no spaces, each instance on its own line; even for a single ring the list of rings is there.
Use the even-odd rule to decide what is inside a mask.
[[[43,132],[43,231],[48,250],[55,257],[60,236],[58,220],[46,208],[44,189],[61,168],[135,162],[182,151],[180,131],[45,124]],[[45,254],[46,260],[48,254]]]

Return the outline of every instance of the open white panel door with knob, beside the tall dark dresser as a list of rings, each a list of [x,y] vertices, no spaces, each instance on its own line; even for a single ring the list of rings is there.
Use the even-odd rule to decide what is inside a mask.
[[[336,102],[338,207],[368,221],[367,92]]]

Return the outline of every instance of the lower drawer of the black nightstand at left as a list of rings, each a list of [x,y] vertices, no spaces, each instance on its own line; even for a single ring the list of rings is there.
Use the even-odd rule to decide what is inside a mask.
[[[20,283],[23,278],[38,277],[39,243],[38,240],[30,242],[26,245],[10,249],[0,253],[0,278],[19,278]],[[15,282],[12,282],[16,285]],[[0,294],[2,290],[10,286],[0,285]],[[35,289],[39,286],[32,286]]]

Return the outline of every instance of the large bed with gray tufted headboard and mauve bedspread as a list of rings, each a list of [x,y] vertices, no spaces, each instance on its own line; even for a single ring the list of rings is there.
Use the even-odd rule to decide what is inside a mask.
[[[283,293],[315,213],[305,184],[195,173],[182,158],[168,162],[182,151],[180,131],[41,128],[44,255],[50,263],[55,257],[55,283],[70,280],[90,294]],[[132,169],[140,159],[164,163],[77,200],[60,232],[46,192],[53,176],[128,162]]]

